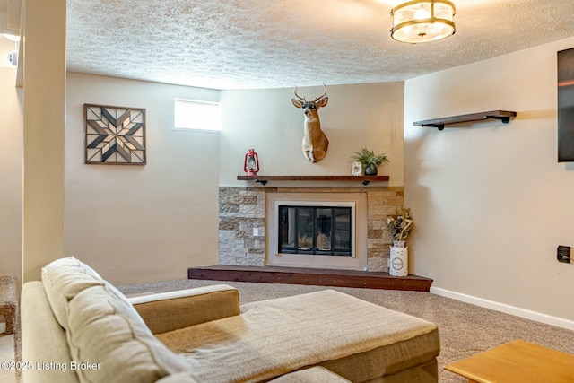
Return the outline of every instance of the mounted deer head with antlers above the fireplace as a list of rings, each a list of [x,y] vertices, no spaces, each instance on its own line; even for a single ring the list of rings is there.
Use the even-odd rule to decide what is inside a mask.
[[[321,121],[317,113],[318,109],[326,106],[326,103],[329,101],[329,98],[325,97],[326,85],[323,84],[323,86],[325,91],[315,100],[308,101],[304,97],[300,97],[297,94],[297,88],[293,91],[297,99],[291,99],[295,108],[303,109],[305,114],[301,149],[309,162],[323,160],[326,156],[326,149],[329,146],[329,140],[327,140],[325,133],[321,130]]]

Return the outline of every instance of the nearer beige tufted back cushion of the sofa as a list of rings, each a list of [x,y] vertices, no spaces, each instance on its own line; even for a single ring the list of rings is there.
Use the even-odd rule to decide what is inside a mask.
[[[86,363],[81,382],[154,382],[187,369],[110,284],[70,300],[66,338],[72,359]]]

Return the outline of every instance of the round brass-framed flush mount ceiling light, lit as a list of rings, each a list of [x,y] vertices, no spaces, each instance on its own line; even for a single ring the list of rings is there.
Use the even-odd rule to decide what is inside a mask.
[[[455,33],[455,4],[447,0],[413,0],[391,11],[391,37],[416,44],[444,39]]]

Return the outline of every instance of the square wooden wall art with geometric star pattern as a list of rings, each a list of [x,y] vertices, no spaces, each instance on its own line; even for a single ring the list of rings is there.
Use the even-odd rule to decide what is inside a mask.
[[[85,163],[145,165],[145,109],[83,104]]]

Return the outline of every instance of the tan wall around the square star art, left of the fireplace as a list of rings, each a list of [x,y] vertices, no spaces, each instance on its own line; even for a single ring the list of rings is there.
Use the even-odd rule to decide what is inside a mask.
[[[68,74],[65,254],[112,283],[217,264],[219,135],[172,130],[174,98],[217,101],[219,91]],[[145,108],[147,164],[84,164],[84,103]]]

